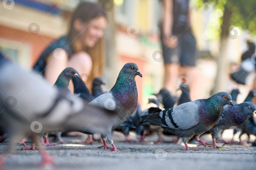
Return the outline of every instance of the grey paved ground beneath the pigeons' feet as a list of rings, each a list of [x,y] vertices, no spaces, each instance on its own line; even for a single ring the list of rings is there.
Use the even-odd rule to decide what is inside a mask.
[[[77,142],[65,137],[67,142]],[[149,139],[148,139],[149,140]],[[149,140],[150,141],[150,140]],[[29,143],[27,143],[29,145]],[[163,142],[125,143],[115,141],[120,152],[98,149],[101,142],[93,145],[77,143],[47,146],[53,162],[48,167],[38,167],[41,156],[37,150],[22,151],[18,145],[15,151],[5,159],[5,169],[113,169],[113,170],[255,170],[256,147],[248,145],[225,145],[229,150],[219,150],[196,144],[189,144],[198,151],[186,151],[184,144]],[[221,145],[221,144],[218,144]],[[1,151],[6,143],[0,144]],[[3,156],[6,157],[6,156]]]

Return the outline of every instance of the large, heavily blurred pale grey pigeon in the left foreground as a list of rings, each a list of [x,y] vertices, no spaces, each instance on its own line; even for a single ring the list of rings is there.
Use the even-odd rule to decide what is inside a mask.
[[[0,80],[0,121],[9,134],[9,153],[15,142],[26,136],[41,148],[41,131],[85,129],[107,134],[109,123],[115,123],[112,115],[118,114],[85,104],[79,97],[52,87],[40,75],[12,63],[0,63]],[[40,152],[43,163],[52,163],[45,150]]]

